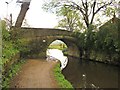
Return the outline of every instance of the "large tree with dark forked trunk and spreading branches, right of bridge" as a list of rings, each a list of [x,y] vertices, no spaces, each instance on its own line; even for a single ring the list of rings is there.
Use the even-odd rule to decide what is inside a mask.
[[[89,58],[90,50],[94,47],[95,42],[94,29],[96,27],[96,22],[100,21],[100,15],[106,15],[106,13],[110,14],[115,12],[114,3],[115,0],[49,0],[43,5],[43,8],[47,11],[56,13],[57,15],[64,11],[65,13],[62,13],[61,16],[67,17],[68,20],[64,18],[62,20],[62,24],[64,24],[65,21],[69,21],[65,24],[67,24],[70,29],[71,27],[72,29],[75,29],[73,22],[71,24],[70,20],[76,18],[75,13],[77,13],[79,18],[77,21],[80,23],[83,22],[82,24],[85,27],[85,32],[82,37],[84,38],[84,51],[86,58]],[[112,12],[110,12],[111,10]],[[76,21],[74,23],[78,24]]]

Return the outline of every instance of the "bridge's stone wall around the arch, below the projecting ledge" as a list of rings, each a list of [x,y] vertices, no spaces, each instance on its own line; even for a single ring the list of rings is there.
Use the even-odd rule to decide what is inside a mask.
[[[46,50],[49,45],[55,40],[63,41],[68,47],[68,55],[73,57],[80,57],[79,47],[77,41],[69,36],[45,36],[26,39],[28,41],[28,52],[24,55],[30,58],[46,57]]]

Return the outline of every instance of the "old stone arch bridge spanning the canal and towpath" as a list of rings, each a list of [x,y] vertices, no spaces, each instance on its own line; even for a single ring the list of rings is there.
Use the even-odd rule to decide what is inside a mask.
[[[24,55],[28,57],[45,57],[48,46],[55,40],[61,40],[67,45],[69,56],[80,56],[77,39],[72,37],[70,31],[50,28],[13,28],[14,31],[19,31],[19,36],[27,43],[26,48],[28,48],[28,51]]]

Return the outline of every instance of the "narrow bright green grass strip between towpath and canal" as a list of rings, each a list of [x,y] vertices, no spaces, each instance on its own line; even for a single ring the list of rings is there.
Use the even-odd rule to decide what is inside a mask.
[[[61,73],[60,63],[56,64],[54,68],[54,75],[60,88],[69,88],[73,90],[73,86],[71,85],[71,83],[68,80],[66,80],[64,75]]]

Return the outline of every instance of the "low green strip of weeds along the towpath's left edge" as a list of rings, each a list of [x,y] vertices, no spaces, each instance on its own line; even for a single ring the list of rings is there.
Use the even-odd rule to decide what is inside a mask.
[[[2,88],[5,90],[9,88],[10,80],[15,76],[21,69],[21,66],[25,63],[25,60],[20,60],[19,62],[13,64],[10,70],[7,72],[6,76],[2,76]]]

